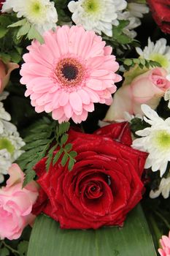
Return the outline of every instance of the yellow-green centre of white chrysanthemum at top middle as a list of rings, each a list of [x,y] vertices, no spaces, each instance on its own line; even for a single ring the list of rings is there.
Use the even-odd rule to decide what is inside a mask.
[[[88,14],[98,14],[102,10],[101,1],[99,0],[85,0],[82,3],[82,8],[84,8],[85,12]]]

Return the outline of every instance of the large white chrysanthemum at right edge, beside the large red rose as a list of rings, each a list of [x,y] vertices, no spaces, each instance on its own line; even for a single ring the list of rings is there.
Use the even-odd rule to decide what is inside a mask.
[[[133,148],[149,153],[145,168],[152,167],[152,171],[160,170],[161,176],[166,171],[170,161],[170,118],[163,120],[147,105],[142,105],[144,121],[151,125],[136,135],[142,136],[134,140]]]

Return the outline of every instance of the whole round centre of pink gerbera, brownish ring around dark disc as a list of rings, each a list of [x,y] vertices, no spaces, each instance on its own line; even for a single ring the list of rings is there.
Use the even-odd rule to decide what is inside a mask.
[[[82,82],[85,69],[76,59],[66,58],[58,62],[55,74],[61,86],[76,86]]]

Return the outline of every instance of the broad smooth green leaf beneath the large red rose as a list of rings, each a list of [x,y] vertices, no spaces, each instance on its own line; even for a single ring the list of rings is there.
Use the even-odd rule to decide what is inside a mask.
[[[42,249],[43,248],[43,249]],[[141,206],[125,220],[123,228],[61,230],[45,215],[36,218],[27,256],[156,256]]]

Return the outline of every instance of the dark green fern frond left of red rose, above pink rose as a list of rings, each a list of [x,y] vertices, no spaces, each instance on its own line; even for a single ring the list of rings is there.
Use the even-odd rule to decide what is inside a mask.
[[[28,127],[28,136],[24,139],[26,146],[23,147],[25,152],[17,159],[18,165],[26,173],[23,187],[36,176],[33,170],[34,165],[46,156],[54,139],[55,127],[55,121],[50,121],[48,118],[42,118]],[[53,151],[51,149],[48,152],[49,154],[52,159]],[[51,159],[47,162],[49,166]]]

